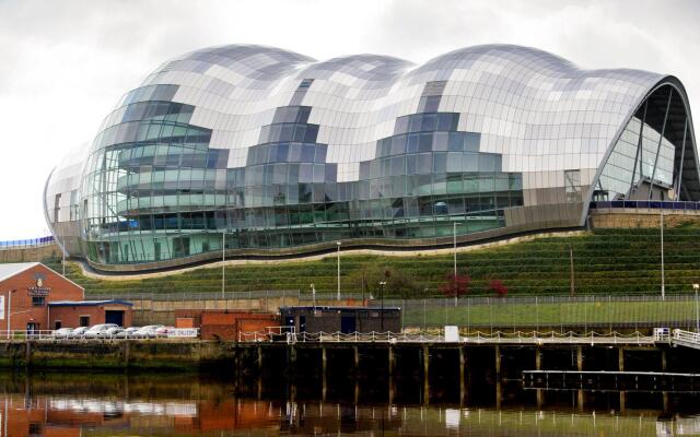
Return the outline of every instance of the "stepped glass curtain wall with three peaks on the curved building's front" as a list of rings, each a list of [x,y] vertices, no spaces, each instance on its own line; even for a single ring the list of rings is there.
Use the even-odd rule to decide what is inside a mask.
[[[210,132],[188,125],[191,107],[129,105],[91,157],[89,256],[130,263],[220,251],[222,232],[228,248],[285,248],[450,236],[455,221],[458,234],[504,226],[504,209],[523,204],[522,175],[480,152],[479,133],[456,131],[458,114],[423,109],[376,142],[359,181],[338,182],[310,107],[278,108],[246,166],[225,169],[228,151],[208,149]]]

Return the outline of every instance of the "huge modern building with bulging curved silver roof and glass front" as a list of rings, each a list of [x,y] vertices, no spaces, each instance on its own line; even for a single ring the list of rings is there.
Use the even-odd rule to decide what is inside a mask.
[[[682,84],[486,45],[423,64],[206,48],[165,62],[49,176],[46,220],[100,270],[434,248],[700,200]]]

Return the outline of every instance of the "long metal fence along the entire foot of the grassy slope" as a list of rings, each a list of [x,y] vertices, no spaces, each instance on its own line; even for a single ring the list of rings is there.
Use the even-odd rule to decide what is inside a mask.
[[[284,305],[362,305],[369,295],[340,295],[317,293],[314,299],[311,293],[299,290],[253,291],[225,293],[86,293],[88,299],[125,299],[129,302],[171,302],[173,307],[191,306],[197,308],[237,308],[245,307],[242,299],[257,304],[252,308],[276,311]],[[221,300],[226,300],[225,305]],[[462,328],[482,330],[532,329],[557,330],[597,330],[611,332],[615,329],[653,327],[673,327],[698,330],[700,327],[700,303],[691,294],[666,295],[576,295],[576,296],[506,296],[506,297],[427,297],[422,299],[374,299],[373,307],[400,307],[405,329],[429,329],[456,324]]]

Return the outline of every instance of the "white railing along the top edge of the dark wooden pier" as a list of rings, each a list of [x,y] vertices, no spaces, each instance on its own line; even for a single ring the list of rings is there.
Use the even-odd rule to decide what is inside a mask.
[[[497,343],[497,344],[652,344],[654,336],[641,332],[476,332],[460,335],[458,342],[445,340],[444,333],[429,332],[283,332],[280,336],[269,330],[240,332],[238,342],[287,342],[287,343]]]

